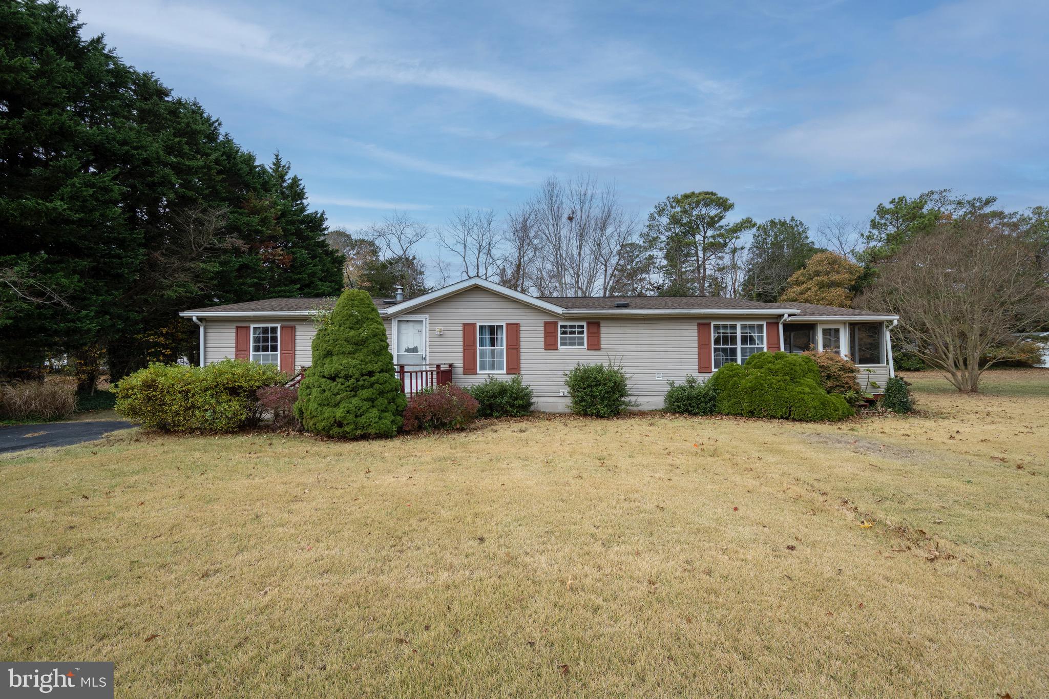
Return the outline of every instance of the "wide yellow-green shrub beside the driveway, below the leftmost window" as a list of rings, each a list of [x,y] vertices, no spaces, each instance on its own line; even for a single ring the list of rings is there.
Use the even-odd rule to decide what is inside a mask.
[[[232,432],[258,423],[259,389],[287,376],[273,365],[224,359],[206,367],[151,364],[113,387],[117,413],[153,430]]]

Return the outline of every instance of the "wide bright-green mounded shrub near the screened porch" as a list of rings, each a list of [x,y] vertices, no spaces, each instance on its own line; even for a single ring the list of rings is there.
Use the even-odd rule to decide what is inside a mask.
[[[815,421],[854,414],[843,397],[823,390],[816,363],[804,354],[758,352],[742,367],[725,365],[709,383],[726,415]]]

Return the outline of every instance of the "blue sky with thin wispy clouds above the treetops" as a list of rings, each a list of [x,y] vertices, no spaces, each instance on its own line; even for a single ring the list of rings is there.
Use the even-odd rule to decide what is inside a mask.
[[[1049,204],[1044,0],[73,6],[333,225],[501,214],[551,174],[639,219],[695,190],[813,228],[929,189]]]

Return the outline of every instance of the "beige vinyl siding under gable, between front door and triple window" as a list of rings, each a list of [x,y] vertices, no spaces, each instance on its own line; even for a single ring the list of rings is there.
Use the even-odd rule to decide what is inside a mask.
[[[578,363],[597,364],[609,358],[622,362],[629,377],[630,394],[641,408],[660,408],[666,393],[667,380],[682,381],[686,374],[699,374],[699,347],[697,323],[701,320],[715,322],[766,322],[768,318],[572,318],[557,315],[518,303],[486,289],[469,289],[453,297],[434,301],[406,313],[406,316],[426,315],[429,320],[429,364],[451,364],[452,380],[461,386],[484,381],[488,376],[508,377],[505,374],[463,374],[464,323],[520,323],[521,379],[532,387],[536,406],[541,410],[564,410],[568,398],[564,390],[564,372]],[[601,322],[601,349],[544,350],[542,324],[544,321],[585,323]],[[387,336],[392,322],[384,319]],[[440,334],[438,334],[440,331]],[[657,378],[662,372],[662,378]]]

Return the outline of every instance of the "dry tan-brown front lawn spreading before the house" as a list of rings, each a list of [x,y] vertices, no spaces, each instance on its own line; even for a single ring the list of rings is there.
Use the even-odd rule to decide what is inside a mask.
[[[134,697],[1047,696],[1049,371],[912,378],[922,414],[838,425],[7,457],[2,657]]]

